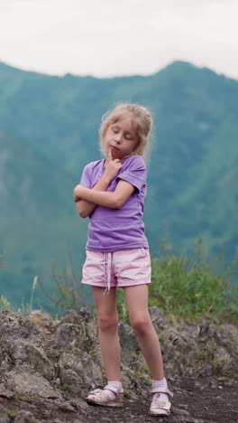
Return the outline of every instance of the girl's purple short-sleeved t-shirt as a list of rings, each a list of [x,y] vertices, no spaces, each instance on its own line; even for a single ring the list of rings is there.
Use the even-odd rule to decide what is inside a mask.
[[[80,184],[93,188],[104,174],[104,159],[87,164]],[[89,216],[86,249],[101,252],[120,249],[148,249],[142,222],[143,202],[146,191],[146,166],[141,155],[131,155],[125,159],[123,167],[109,186],[114,192],[120,179],[131,183],[135,190],[120,209],[96,206]]]

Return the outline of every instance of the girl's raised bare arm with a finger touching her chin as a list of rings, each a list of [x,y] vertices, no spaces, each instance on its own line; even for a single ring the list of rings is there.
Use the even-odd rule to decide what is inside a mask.
[[[92,190],[89,191],[105,192],[109,183],[114,179],[114,177],[121,168],[122,164],[120,160],[113,159],[112,152],[111,150],[109,150],[105,164],[105,173],[96,183],[96,185],[92,188]],[[77,202],[77,210],[82,218],[87,218],[91,214],[91,212],[96,209],[96,206],[98,205],[96,204],[96,202],[93,202],[92,200],[87,200],[78,195],[76,188],[74,190],[74,200],[75,202]]]

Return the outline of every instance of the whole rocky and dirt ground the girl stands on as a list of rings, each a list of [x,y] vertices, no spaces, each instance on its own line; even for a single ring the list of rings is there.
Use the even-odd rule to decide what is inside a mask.
[[[130,326],[119,326],[124,409],[108,409],[83,400],[105,383],[93,315],[69,311],[57,322],[0,311],[0,423],[238,422],[237,327],[150,312],[174,392],[168,418],[148,415],[150,378]]]

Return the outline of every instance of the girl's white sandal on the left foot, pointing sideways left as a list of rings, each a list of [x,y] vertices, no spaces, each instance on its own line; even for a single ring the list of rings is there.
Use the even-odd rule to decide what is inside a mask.
[[[115,394],[115,399],[110,400],[108,392],[112,390]],[[91,390],[86,398],[89,404],[97,404],[105,407],[123,407],[124,406],[124,390],[117,390],[112,385],[106,385],[103,390]]]

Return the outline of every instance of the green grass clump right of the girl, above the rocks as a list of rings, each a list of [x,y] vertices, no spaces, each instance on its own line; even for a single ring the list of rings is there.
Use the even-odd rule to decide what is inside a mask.
[[[221,270],[222,258],[203,257],[202,240],[193,253],[193,258],[175,256],[163,244],[160,257],[152,259],[149,305],[188,320],[208,315],[216,322],[237,322],[238,287],[231,282],[237,259]]]

